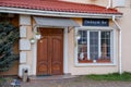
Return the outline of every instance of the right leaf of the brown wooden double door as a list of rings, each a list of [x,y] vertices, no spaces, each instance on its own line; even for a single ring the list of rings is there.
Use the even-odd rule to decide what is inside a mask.
[[[62,73],[62,38],[61,36],[52,37],[52,60],[51,60],[51,73],[61,74]]]

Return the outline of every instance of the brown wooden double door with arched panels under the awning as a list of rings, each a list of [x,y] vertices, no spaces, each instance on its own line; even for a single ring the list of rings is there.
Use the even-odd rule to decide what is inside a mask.
[[[63,74],[63,29],[39,28],[37,75]]]

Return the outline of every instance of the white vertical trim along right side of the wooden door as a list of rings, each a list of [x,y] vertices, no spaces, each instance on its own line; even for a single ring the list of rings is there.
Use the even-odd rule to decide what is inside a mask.
[[[64,28],[63,36],[63,73],[68,74],[68,27]]]

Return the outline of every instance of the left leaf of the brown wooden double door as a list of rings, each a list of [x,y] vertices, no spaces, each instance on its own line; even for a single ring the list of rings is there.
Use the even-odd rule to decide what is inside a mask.
[[[44,37],[43,39],[38,40],[38,50],[37,50],[37,74],[48,74],[48,37]]]

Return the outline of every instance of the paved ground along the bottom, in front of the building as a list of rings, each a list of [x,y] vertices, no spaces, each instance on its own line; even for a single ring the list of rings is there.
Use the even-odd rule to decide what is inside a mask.
[[[22,83],[21,87],[131,87],[131,82],[91,80],[82,78],[40,79]]]

